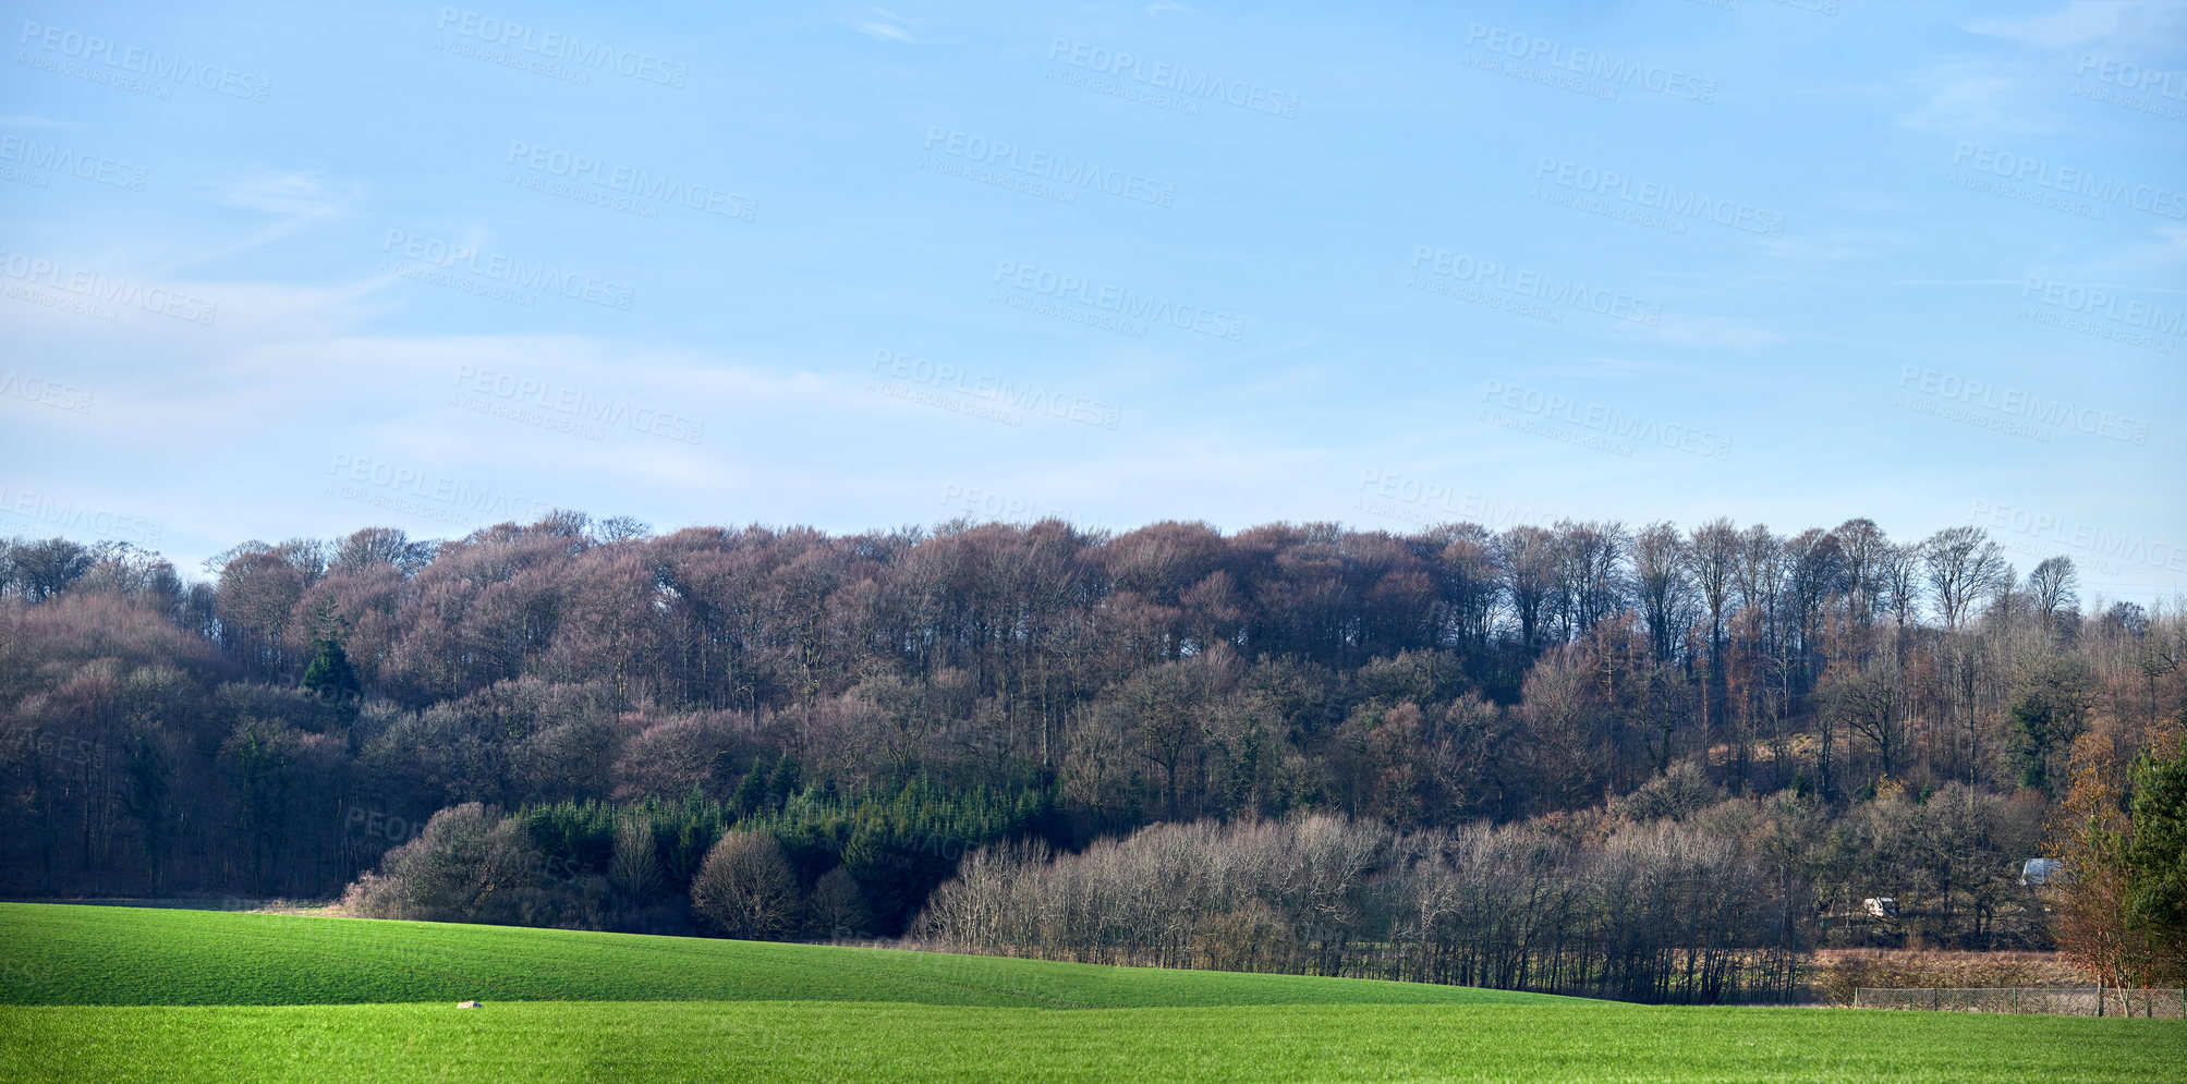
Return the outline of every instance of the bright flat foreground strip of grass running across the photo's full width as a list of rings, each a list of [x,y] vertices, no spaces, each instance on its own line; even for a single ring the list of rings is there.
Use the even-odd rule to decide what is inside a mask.
[[[2178,1021],[851,1003],[0,1008],[17,1080],[2178,1080]]]

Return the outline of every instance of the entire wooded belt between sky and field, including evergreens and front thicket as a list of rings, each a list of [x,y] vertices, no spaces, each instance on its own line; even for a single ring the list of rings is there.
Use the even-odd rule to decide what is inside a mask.
[[[2187,712],[2097,603],[1870,520],[13,540],[0,892],[1771,997],[2051,942]]]

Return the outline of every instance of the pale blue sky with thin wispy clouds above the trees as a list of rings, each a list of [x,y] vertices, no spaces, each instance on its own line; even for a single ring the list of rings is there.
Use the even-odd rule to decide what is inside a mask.
[[[0,533],[1872,516],[2187,586],[2187,9],[1439,9],[9,2]]]

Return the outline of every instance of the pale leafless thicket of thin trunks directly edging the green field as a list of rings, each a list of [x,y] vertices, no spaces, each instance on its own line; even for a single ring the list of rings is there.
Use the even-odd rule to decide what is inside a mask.
[[[1734,802],[1728,817],[1791,817]],[[1157,824],[975,855],[916,935],[1094,964],[1349,975],[1629,1001],[1789,1001],[1789,870],[1664,820],[1395,833],[1332,815]]]

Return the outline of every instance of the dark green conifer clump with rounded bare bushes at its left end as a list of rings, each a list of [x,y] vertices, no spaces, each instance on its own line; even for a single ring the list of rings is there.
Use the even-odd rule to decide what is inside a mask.
[[[763,787],[739,787],[728,804],[693,789],[682,802],[558,802],[514,815],[466,802],[435,813],[416,839],[389,850],[376,872],[343,892],[343,909],[361,918],[632,933],[892,938],[958,859],[1034,835],[1048,815],[1041,793],[940,796],[919,782],[890,798],[814,789],[770,798]],[[704,903],[693,883],[730,828],[739,839],[724,857],[739,844],[763,844],[768,874],[765,892],[750,883],[735,892],[739,920],[693,907]],[[713,865],[720,874],[724,859]]]

